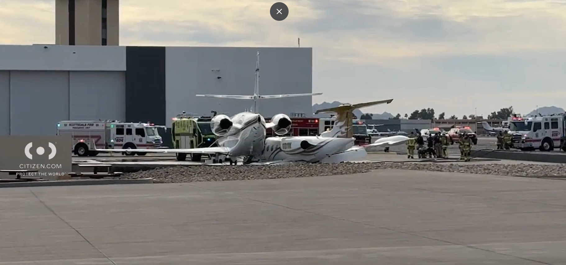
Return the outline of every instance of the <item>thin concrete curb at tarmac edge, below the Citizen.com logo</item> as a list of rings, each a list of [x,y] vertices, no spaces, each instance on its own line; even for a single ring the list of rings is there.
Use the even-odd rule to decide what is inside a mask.
[[[85,185],[112,185],[112,184],[153,184],[153,179],[29,181],[29,182],[19,182],[19,183],[2,183],[0,184],[0,188],[85,186]]]

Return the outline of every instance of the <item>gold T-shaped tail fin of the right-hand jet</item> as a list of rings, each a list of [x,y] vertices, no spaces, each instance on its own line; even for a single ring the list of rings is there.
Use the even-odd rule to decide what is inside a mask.
[[[315,115],[319,113],[336,112],[336,120],[334,121],[334,127],[332,127],[331,131],[329,132],[321,133],[320,136],[336,137],[336,138],[354,137],[354,133],[352,131],[354,114],[352,111],[354,111],[357,108],[375,106],[380,104],[389,104],[392,101],[393,99],[386,99],[382,101],[372,101],[372,102],[359,103],[354,105],[344,104],[338,107],[324,108],[322,110],[318,110],[315,112]]]

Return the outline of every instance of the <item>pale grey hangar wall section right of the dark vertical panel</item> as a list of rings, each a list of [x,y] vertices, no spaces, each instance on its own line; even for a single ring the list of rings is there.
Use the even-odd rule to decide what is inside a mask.
[[[165,98],[168,126],[181,111],[237,114],[252,101],[201,98],[196,94],[254,93],[256,53],[260,52],[260,94],[312,93],[312,48],[166,47]],[[218,77],[221,77],[218,79]],[[263,99],[260,114],[312,112],[312,97]]]

